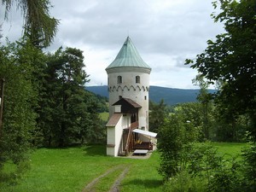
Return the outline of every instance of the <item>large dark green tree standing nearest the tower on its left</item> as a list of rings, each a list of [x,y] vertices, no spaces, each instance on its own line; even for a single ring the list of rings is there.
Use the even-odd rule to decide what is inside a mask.
[[[39,112],[39,124],[49,145],[54,141],[63,147],[79,135],[79,123],[87,115],[84,84],[88,76],[83,67],[84,56],[79,49],[60,48],[49,55],[42,100],[45,108]]]

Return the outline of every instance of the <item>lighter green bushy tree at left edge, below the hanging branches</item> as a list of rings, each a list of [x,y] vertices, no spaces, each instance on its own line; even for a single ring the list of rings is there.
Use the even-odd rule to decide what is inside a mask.
[[[36,50],[30,49],[25,54],[21,49],[19,44],[9,43],[0,47],[0,78],[5,79],[0,172],[7,161],[13,162],[18,171],[24,171],[22,167],[27,162],[31,133],[36,125],[37,113],[33,105],[37,92],[30,79],[33,71],[31,55]],[[26,62],[22,60],[24,56]]]

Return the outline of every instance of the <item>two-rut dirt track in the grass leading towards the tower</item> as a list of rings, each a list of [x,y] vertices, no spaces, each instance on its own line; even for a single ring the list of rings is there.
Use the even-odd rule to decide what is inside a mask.
[[[124,166],[120,165],[120,166],[115,166],[111,169],[109,169],[107,172],[103,173],[101,176],[96,177],[94,180],[92,180],[89,184],[86,185],[86,187],[83,189],[83,192],[95,192],[94,186],[96,185],[96,183],[98,183],[98,181],[102,178],[102,177],[106,177],[109,173],[114,172],[118,169],[122,169]],[[115,182],[113,183],[112,188],[110,189],[111,192],[117,192],[119,191],[119,184],[121,182],[121,180],[125,177],[125,174],[129,171],[130,167],[126,167],[125,170],[119,175],[119,177],[115,180]]]

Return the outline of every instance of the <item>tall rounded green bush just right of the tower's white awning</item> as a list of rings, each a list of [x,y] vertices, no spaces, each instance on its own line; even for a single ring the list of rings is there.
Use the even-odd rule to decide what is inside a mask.
[[[160,174],[167,180],[182,171],[188,161],[189,143],[196,141],[198,130],[182,116],[171,115],[159,129]]]

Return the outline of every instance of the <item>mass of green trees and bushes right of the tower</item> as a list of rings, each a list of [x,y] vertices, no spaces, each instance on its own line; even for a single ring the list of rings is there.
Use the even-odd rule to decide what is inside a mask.
[[[212,19],[224,23],[225,32],[208,40],[207,48],[195,59],[185,61],[199,73],[193,79],[201,87],[199,103],[174,108],[159,120],[159,127],[154,126],[159,133],[159,171],[166,180],[166,191],[256,189],[256,2],[224,0],[212,5],[221,9]],[[218,91],[209,94],[209,84],[216,84]],[[225,160],[203,142],[212,139],[245,139],[249,147],[242,150],[241,160]],[[200,184],[184,189],[185,181]]]

